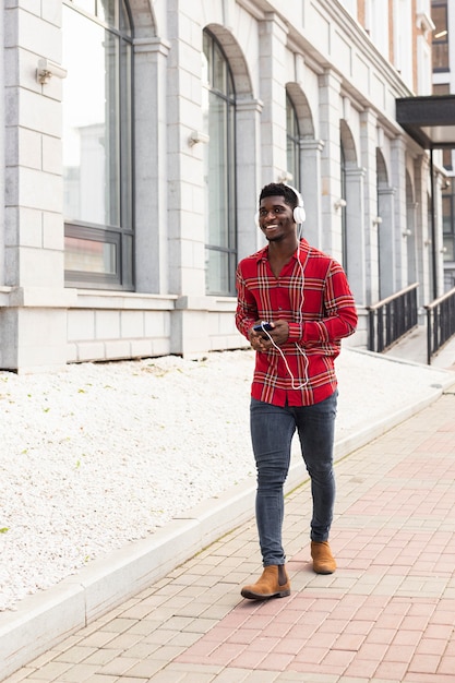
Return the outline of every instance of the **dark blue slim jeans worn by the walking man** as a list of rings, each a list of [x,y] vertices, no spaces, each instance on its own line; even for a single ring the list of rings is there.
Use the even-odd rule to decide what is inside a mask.
[[[289,470],[297,429],[311,478],[311,540],[326,541],[335,503],[333,446],[338,392],[313,406],[273,406],[251,399],[250,428],[258,469],[256,523],[264,566],[284,564],[283,486]]]

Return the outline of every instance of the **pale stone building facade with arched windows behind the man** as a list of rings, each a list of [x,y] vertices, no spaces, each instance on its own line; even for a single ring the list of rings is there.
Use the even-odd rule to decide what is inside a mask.
[[[244,346],[237,262],[263,184],[368,307],[443,291],[428,153],[395,100],[432,92],[430,0],[5,0],[0,368]],[[434,241],[434,240],[433,240]]]

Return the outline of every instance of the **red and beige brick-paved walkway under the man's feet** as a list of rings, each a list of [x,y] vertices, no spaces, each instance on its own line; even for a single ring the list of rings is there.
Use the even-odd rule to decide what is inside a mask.
[[[332,547],[309,555],[310,490],[287,498],[291,596],[256,603],[254,520],[8,683],[454,683],[455,386],[336,466]]]

